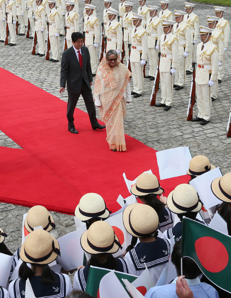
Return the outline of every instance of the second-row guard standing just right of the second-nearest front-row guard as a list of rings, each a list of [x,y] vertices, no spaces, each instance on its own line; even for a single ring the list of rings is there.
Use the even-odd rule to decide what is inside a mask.
[[[187,23],[184,22],[185,11],[175,10],[176,23],[173,25],[173,34],[179,42],[178,66],[175,73],[175,90],[181,90],[185,82],[185,58],[191,51],[192,33]]]

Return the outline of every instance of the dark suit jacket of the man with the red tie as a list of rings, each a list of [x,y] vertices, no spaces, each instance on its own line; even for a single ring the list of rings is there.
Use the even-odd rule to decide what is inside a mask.
[[[76,52],[73,46],[63,52],[61,61],[61,77],[60,87],[66,87],[70,93],[77,94],[81,90],[82,79],[90,87],[90,82],[93,81],[91,67],[90,67],[90,54],[87,47],[81,47],[82,53],[82,69],[79,65]]]

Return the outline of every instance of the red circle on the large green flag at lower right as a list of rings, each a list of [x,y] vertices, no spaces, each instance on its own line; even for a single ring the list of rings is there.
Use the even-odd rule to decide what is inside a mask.
[[[225,245],[213,237],[206,236],[197,239],[195,249],[202,266],[209,272],[220,272],[229,262],[229,254]]]

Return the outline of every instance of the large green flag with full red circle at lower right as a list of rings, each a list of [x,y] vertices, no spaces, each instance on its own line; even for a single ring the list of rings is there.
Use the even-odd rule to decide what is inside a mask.
[[[184,218],[181,257],[186,256],[215,285],[231,293],[231,236]]]

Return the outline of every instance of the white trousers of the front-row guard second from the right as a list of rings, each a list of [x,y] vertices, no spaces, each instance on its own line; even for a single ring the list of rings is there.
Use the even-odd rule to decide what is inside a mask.
[[[171,106],[173,98],[173,81],[170,70],[167,73],[159,72],[161,81],[161,103]]]

